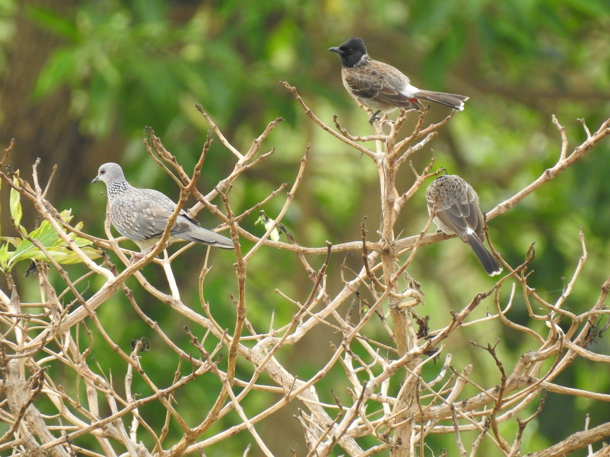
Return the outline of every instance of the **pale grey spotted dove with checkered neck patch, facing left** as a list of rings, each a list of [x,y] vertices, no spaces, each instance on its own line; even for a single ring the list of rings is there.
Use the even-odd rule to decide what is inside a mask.
[[[132,239],[146,253],[163,235],[176,204],[165,194],[154,189],[138,189],[130,185],[118,163],[104,163],[91,184],[106,183],[110,205],[110,222],[121,235]],[[200,227],[199,222],[180,210],[171,227],[170,240],[182,239],[222,249],[234,249],[233,241],[226,236]]]

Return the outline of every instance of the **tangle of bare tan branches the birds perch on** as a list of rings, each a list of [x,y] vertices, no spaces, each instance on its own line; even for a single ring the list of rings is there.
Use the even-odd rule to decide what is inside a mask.
[[[354,154],[363,154],[378,170],[382,218],[379,227],[367,227],[370,224],[363,221],[361,239],[303,246],[282,225],[291,204],[300,196],[309,146],[303,152],[292,185],[283,183],[252,207],[237,211],[232,206],[231,186],[249,169],[273,160],[273,147],[267,152],[261,152],[261,148],[271,130],[278,128],[281,118],[271,121],[248,151],[239,151],[198,106],[213,133],[208,135],[192,170],[182,167],[152,129],[145,132],[145,147],[151,160],[163,167],[179,186],[181,205],[187,197],[194,197],[196,204],[185,209],[194,216],[206,208],[221,221],[219,228],[228,228],[235,241],[235,275],[231,278],[235,284],[235,294],[231,296],[235,319],[230,328],[218,323],[215,310],[220,303],[206,301],[204,291],[211,267],[207,256],[199,272],[200,303],[193,306],[183,300],[185,294],[181,293],[184,291],[180,290],[173,269],[176,258],[189,246],[169,255],[163,253],[165,243],[161,242],[141,260],[132,262],[127,257],[129,250],[119,244],[122,240],[113,238],[108,221],[107,239],[91,236],[46,199],[53,183],[39,181],[38,163],[27,179],[24,170],[13,175],[4,169],[0,172],[2,184],[12,189],[13,203],[20,199],[21,204],[32,205],[56,239],[51,246],[45,239],[21,230],[19,221],[15,221],[15,228],[21,234],[15,243],[27,241],[32,244],[31,252],[37,253],[32,254],[32,261],[38,275],[38,291],[37,299],[23,301],[20,298],[23,292],[15,285],[10,268],[3,267],[8,289],[0,290],[0,366],[4,393],[0,414],[6,427],[0,439],[0,454],[204,455],[206,448],[243,432],[251,436],[251,447],[257,448],[257,454],[270,456],[273,455],[270,443],[260,433],[259,424],[282,408],[297,405],[295,420],[303,429],[307,445],[302,455],[423,456],[429,455],[428,441],[432,436],[448,434],[455,438],[455,447],[447,450],[447,455],[483,455],[478,452],[484,448],[489,452],[492,448],[497,455],[517,456],[530,451],[523,449],[523,431],[542,410],[545,392],[596,403],[610,401],[610,395],[603,392],[584,391],[557,381],[577,358],[589,361],[600,370],[607,370],[610,364],[610,356],[595,353],[590,347],[600,330],[600,322],[608,320],[610,311],[605,301],[610,278],[600,285],[595,303],[588,303],[586,309],[579,308],[583,311],[576,312],[565,306],[587,261],[582,230],[581,258],[558,299],[547,301],[528,285],[528,264],[534,256],[529,250],[519,265],[511,266],[503,261],[506,274],[492,288],[465,297],[461,309],[452,311],[442,324],[430,328],[422,306],[426,290],[409,275],[409,266],[417,258],[419,247],[449,236],[426,233],[432,222],[429,218],[420,233],[397,239],[396,223],[407,202],[440,172],[434,168],[433,159],[423,169],[416,169],[409,158],[422,151],[453,115],[426,126],[426,112],[423,112],[414,132],[400,141],[398,133],[406,116],[412,113],[401,112],[395,122],[382,119],[375,125],[374,135],[352,135],[337,118],[334,126],[325,124],[307,107],[295,88],[284,85],[320,129],[353,148]],[[610,119],[594,133],[582,122],[587,138],[570,149],[564,127],[553,116],[553,124],[561,135],[556,164],[514,196],[498,203],[487,213],[487,220],[510,211],[526,196],[594,151],[594,146],[610,135]],[[384,133],[384,127],[389,133]],[[235,163],[232,171],[204,194],[196,184],[213,136],[234,156]],[[12,148],[13,143],[0,165],[6,163]],[[409,189],[400,191],[397,175],[405,163],[409,163],[413,180]],[[242,222],[257,216],[259,208],[271,199],[283,199],[283,203],[264,235],[245,230]],[[17,211],[16,204],[12,208]],[[177,214],[174,211],[174,219]],[[282,229],[287,241],[269,238],[276,227]],[[163,237],[167,239],[168,234],[169,225]],[[240,240],[251,243],[240,244]],[[259,328],[248,319],[251,313],[262,312],[249,307],[248,272],[264,249],[279,249],[295,255],[302,271],[291,271],[290,275],[306,278],[309,289],[301,299],[281,289],[270,291],[291,307],[292,320],[275,322],[274,315],[269,313],[268,328]],[[5,250],[2,255],[8,258],[10,252],[12,249]],[[68,257],[61,257],[58,252],[68,256],[71,263],[65,263]],[[112,263],[108,252],[116,256],[119,264]],[[348,252],[361,255],[359,269],[354,271],[337,260],[337,254]],[[85,274],[75,277],[74,264],[84,267]],[[143,274],[149,264],[160,267],[167,278],[169,292]],[[328,270],[337,268],[338,264],[341,280],[331,285]],[[60,286],[49,277],[51,271],[59,273]],[[171,308],[188,335],[188,349],[175,344],[147,316],[142,299],[135,299],[134,287]],[[508,298],[501,290],[510,291]],[[99,308],[115,292],[124,297],[124,302],[129,303],[162,342],[156,354],[162,353],[174,369],[173,378],[165,384],[157,384],[141,363],[142,358],[149,356],[146,339],[134,340],[129,350],[124,342],[113,341],[101,324]],[[517,294],[523,295],[531,322],[541,325],[525,327],[510,319],[508,311]],[[71,298],[66,300],[66,297]],[[473,318],[473,311],[483,300],[492,303],[490,311],[484,317]],[[450,351],[449,348],[456,334],[490,325],[510,328],[531,341],[534,349],[523,353],[519,360],[506,360],[493,345],[493,339],[492,344],[473,346],[472,350],[480,352],[482,358],[489,358],[496,367],[495,374],[490,375],[495,381],[483,385],[473,376],[476,364],[462,358],[462,369],[457,369],[454,363],[462,356],[458,349]],[[376,328],[375,336],[365,329],[371,326]],[[339,335],[340,343],[331,344],[330,353],[325,352],[324,363],[315,367],[314,372],[303,377],[282,363],[306,336],[322,328]],[[92,355],[94,339],[98,339],[96,345],[104,345],[120,358],[124,375],[104,372],[98,366]],[[68,375],[59,382],[56,378],[59,373]],[[329,394],[320,390],[320,381],[331,373],[337,386],[346,387],[342,392],[335,391],[331,402],[325,402],[323,398]],[[136,382],[146,386],[145,394],[135,394]],[[195,406],[199,416],[192,423],[186,417],[192,419],[188,411],[193,405],[176,403],[174,399],[180,389],[196,383],[204,383],[206,389],[218,395],[212,404]],[[164,412],[162,428],[150,425],[148,405],[157,405]],[[522,414],[528,417],[522,419]],[[231,422],[229,427],[226,421]],[[506,423],[513,423],[515,427],[503,427]],[[179,430],[180,439],[168,439],[170,426]],[[609,428],[608,423],[587,428],[544,450],[532,450],[535,452],[530,455],[567,455],[608,438]],[[251,447],[243,451],[244,455]],[[433,452],[436,455],[436,450]]]

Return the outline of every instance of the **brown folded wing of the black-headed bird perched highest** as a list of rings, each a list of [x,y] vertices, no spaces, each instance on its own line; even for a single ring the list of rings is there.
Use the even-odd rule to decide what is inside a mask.
[[[357,97],[406,109],[419,109],[421,106],[416,98],[400,93],[409,85],[409,78],[387,63],[371,59],[367,65],[344,68],[343,80]]]

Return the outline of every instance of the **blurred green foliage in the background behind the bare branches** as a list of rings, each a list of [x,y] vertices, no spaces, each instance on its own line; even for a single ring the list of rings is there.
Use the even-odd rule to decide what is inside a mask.
[[[0,1],[2,72],[10,70],[4,62],[10,44],[10,19],[17,8],[15,1]],[[276,148],[273,156],[262,168],[253,169],[237,182],[229,197],[237,213],[256,204],[282,182],[292,181],[306,144],[311,143],[303,183],[282,221],[297,241],[307,246],[323,246],[325,239],[333,243],[359,239],[363,216],[369,216],[369,236],[375,238],[379,218],[375,167],[316,129],[278,83],[287,80],[295,85],[326,122],[332,122],[332,113],[339,113],[340,122],[350,132],[371,133],[367,115],[341,87],[337,56],[326,52],[351,35],[361,36],[373,58],[397,66],[411,76],[415,85],[470,96],[465,111],[443,127],[430,148],[414,158],[414,166],[422,168],[434,151],[437,166],[461,174],[478,190],[484,210],[522,189],[559,157],[560,136],[550,122],[551,114],[566,127],[573,146],[584,138],[576,118],[586,119],[593,130],[610,113],[608,0],[90,0],[78,2],[70,16],[54,13],[46,5],[29,7],[27,15],[66,42],[49,55],[32,97],[41,99],[67,85],[70,116],[80,119],[81,131],[96,140],[116,137],[123,140],[117,144],[126,144],[122,163],[134,185],[154,186],[177,195],[175,187],[167,187],[173,186],[171,180],[146,156],[142,129],[152,126],[188,170],[195,164],[209,129],[194,109],[195,103],[203,105],[238,149],[249,147],[269,121],[284,118],[286,122],[279,124],[263,145],[267,151]],[[428,120],[445,115],[443,108],[433,107]],[[410,131],[409,126],[404,127],[405,134]],[[548,297],[558,297],[564,286],[562,277],[572,275],[581,255],[578,227],[583,227],[589,260],[570,303],[575,307],[590,306],[597,299],[610,265],[610,146],[606,141],[596,149],[583,163],[490,221],[495,248],[513,265],[523,260],[531,243],[536,243],[532,283]],[[226,175],[232,159],[217,141],[204,164],[202,191]],[[90,160],[106,161],[99,151]],[[412,174],[407,167],[403,179],[404,187],[399,191],[411,185]],[[98,190],[66,196],[66,202],[82,211],[83,217],[98,227],[96,234],[101,235],[105,202]],[[281,200],[272,200],[264,209],[274,218],[281,204]],[[257,216],[253,214],[242,226],[262,235],[264,229],[255,225]],[[403,236],[418,233],[427,217],[423,193],[417,194],[403,211]],[[203,215],[200,219],[206,226],[215,223]],[[397,232],[401,228],[397,227]],[[247,250],[250,244],[243,241],[242,246]],[[201,263],[203,252],[195,247],[183,257],[184,275],[178,278],[179,285],[192,291],[183,299],[196,308],[196,265]],[[356,268],[359,255],[354,257],[347,263]],[[312,259],[312,264],[319,266],[321,261]],[[339,256],[331,261],[329,284],[339,279],[342,261]],[[204,296],[222,307],[215,309],[216,317],[230,328],[235,311],[228,294],[234,292],[234,286],[224,278],[232,275],[231,253],[213,252],[213,263]],[[420,314],[431,315],[431,327],[445,322],[448,310],[463,306],[475,292],[493,285],[457,240],[422,247],[409,272],[422,282],[426,308]],[[165,280],[153,266],[145,274],[157,282]],[[303,279],[295,280],[298,277]],[[129,286],[137,295],[135,282]],[[255,326],[265,327],[271,310],[275,310],[276,324],[289,321],[295,310],[274,294],[274,289],[304,299],[310,286],[294,257],[268,249],[251,263],[248,319]],[[90,289],[95,291],[95,280]],[[508,298],[508,294],[503,291],[503,296]],[[188,338],[180,323],[173,322],[171,310],[159,305],[147,303],[145,312],[188,350]],[[484,306],[479,308],[484,314]],[[528,322],[519,297],[511,313],[513,319],[536,325]],[[154,335],[121,297],[102,306],[98,314],[102,322],[113,322],[110,336],[124,341],[126,347],[132,338],[148,336],[153,349],[143,364],[149,364],[149,373],[159,377],[160,385],[163,377],[171,379],[172,374],[163,369],[173,369],[172,355],[154,352]],[[506,360],[527,350],[527,341],[511,340],[505,328],[495,330],[492,335],[469,336],[483,343],[503,339]],[[370,331],[373,337],[375,328]],[[315,370],[307,363],[315,364],[315,353],[325,351],[332,338],[325,335],[320,341],[307,341],[295,348],[311,360],[304,360],[304,356],[298,360],[303,363],[303,377]],[[594,350],[609,353],[608,344],[600,342],[603,344],[595,345]],[[493,361],[484,360],[484,355],[468,347],[466,341],[456,341],[455,346],[456,350],[470,351],[473,359],[481,358],[479,366],[489,368],[475,378],[486,377],[489,382],[497,377]],[[109,370],[118,360],[105,357],[105,352],[109,351],[102,346],[96,358],[102,369]],[[582,369],[586,372],[586,367]],[[587,377],[579,370],[575,366],[572,372],[570,383],[576,383],[574,387],[582,384],[590,389],[588,383],[596,383],[598,391],[610,388],[607,377]],[[328,389],[331,387],[337,395],[344,394],[340,386],[328,381]],[[217,393],[207,391],[202,383],[201,391],[189,392],[189,398],[180,401],[207,405]],[[328,395],[328,391],[324,393]],[[324,400],[333,402],[329,396]],[[565,411],[563,400],[550,397],[540,420],[550,419],[547,411]],[[558,414],[561,421],[544,427],[544,438],[538,433],[528,435],[531,429],[526,436],[533,442],[555,442],[581,430],[588,406],[586,402],[570,404],[569,410],[575,414]],[[194,409],[193,414],[197,413]],[[608,411],[596,411],[592,426],[609,419]],[[162,420],[159,417],[156,425],[160,427]],[[187,418],[187,422],[196,420]],[[298,429],[296,433],[300,433]],[[434,439],[440,448],[443,440],[454,438]],[[226,449],[226,453],[243,451],[241,443],[230,445],[235,447]]]

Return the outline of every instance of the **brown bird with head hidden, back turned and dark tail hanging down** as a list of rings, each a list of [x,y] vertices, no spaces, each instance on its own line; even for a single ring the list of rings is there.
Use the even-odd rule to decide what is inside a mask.
[[[426,189],[428,213],[434,223],[448,235],[458,235],[475,251],[476,257],[490,276],[500,274],[502,267],[483,246],[485,241],[483,213],[479,196],[470,184],[458,175],[440,175]]]

